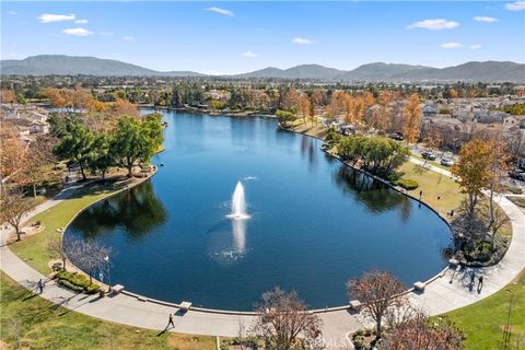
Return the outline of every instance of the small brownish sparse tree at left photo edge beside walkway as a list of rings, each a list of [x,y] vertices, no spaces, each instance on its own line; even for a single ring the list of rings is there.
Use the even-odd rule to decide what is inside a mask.
[[[22,221],[24,215],[33,208],[31,200],[24,198],[21,191],[5,191],[1,201],[0,222],[9,223],[16,232],[16,241],[22,238]]]

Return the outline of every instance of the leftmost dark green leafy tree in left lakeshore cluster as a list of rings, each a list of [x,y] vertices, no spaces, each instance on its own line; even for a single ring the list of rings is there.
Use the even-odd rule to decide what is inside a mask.
[[[95,151],[93,142],[95,136],[80,122],[71,122],[66,135],[54,148],[54,153],[61,159],[69,159],[77,162],[85,180],[85,167],[89,166],[92,153]]]

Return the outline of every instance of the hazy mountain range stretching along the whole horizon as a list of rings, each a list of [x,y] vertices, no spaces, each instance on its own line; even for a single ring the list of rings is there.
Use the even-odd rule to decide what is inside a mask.
[[[114,77],[207,77],[192,71],[156,71],[113,59],[63,55],[32,56],[22,60],[1,60],[4,75],[114,75]],[[212,77],[212,75],[208,75]],[[411,65],[374,62],[353,70],[339,70],[319,65],[301,65],[289,69],[268,67],[261,70],[221,75],[232,79],[303,79],[319,81],[482,81],[525,82],[525,65],[511,61],[470,61],[459,66],[433,68]]]

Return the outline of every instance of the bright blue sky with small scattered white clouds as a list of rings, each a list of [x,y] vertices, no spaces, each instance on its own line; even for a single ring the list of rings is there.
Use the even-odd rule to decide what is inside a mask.
[[[1,2],[1,58],[95,56],[158,70],[525,62],[525,1]]]

